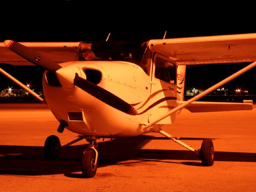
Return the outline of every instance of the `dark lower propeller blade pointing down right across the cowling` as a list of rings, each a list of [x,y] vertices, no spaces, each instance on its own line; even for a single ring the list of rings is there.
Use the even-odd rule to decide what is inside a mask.
[[[129,115],[137,115],[137,110],[124,100],[120,99],[118,96],[110,93],[109,91],[93,84],[92,82],[85,80],[76,74],[74,78],[74,85],[78,86],[80,89],[84,90],[88,94],[94,96],[98,100],[108,104],[109,106],[114,107],[117,110],[120,110]]]

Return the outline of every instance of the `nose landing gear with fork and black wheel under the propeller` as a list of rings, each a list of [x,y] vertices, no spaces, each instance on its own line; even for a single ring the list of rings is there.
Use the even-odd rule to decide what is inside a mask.
[[[86,178],[92,178],[97,172],[97,161],[98,161],[98,152],[96,147],[96,138],[87,138],[86,139],[90,144],[88,148],[84,150],[84,156],[82,159],[82,175]]]

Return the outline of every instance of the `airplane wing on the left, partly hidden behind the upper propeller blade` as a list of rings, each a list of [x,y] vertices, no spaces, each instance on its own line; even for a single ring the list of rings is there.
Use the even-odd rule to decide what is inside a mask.
[[[80,42],[22,42],[26,47],[46,56],[54,62],[74,61]],[[0,43],[0,64],[34,65]]]

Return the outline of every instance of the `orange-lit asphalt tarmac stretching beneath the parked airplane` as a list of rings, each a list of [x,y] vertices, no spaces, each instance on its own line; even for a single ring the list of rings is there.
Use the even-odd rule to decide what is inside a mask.
[[[256,108],[256,106],[254,106]],[[190,113],[182,110],[169,134],[198,149],[214,138],[215,162],[204,167],[196,154],[171,140],[102,140],[94,178],[80,171],[86,141],[64,148],[59,160],[44,160],[45,139],[63,144],[77,138],[43,104],[0,104],[0,191],[255,191],[256,109]]]

